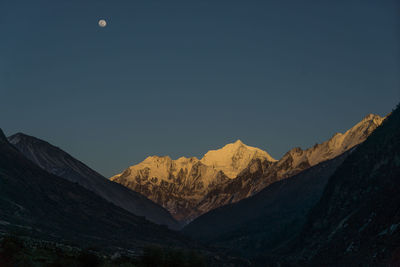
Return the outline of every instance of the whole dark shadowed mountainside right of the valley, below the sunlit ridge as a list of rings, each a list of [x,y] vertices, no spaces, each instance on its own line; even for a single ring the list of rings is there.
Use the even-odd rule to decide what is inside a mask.
[[[210,211],[183,232],[236,255],[256,257],[260,264],[375,266],[395,261],[400,256],[399,113],[396,109],[352,150]]]

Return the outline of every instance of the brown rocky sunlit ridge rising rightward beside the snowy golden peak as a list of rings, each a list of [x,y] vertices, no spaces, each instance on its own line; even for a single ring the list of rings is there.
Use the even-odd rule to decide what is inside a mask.
[[[302,150],[293,148],[279,161],[269,162],[256,159],[250,162],[237,178],[217,185],[199,203],[199,209],[212,210],[250,197],[266,186],[298,174],[311,166],[332,159],[366,138],[382,123],[384,118],[370,114],[346,131],[337,133],[331,139]]]

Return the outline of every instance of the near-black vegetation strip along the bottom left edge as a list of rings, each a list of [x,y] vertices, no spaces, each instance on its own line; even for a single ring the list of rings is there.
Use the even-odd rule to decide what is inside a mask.
[[[108,267],[208,266],[206,257],[193,250],[148,246],[141,255],[107,255],[95,248],[79,249],[49,242],[30,243],[7,235],[0,242],[0,266]]]

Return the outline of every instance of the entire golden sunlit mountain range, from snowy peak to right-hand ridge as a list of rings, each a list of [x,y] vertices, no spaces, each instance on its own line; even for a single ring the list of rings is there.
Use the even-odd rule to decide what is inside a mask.
[[[333,159],[363,142],[383,121],[370,114],[344,134],[307,150],[294,148],[279,161],[241,141],[197,158],[149,157],[111,178],[189,222],[223,205],[250,197],[276,181]]]

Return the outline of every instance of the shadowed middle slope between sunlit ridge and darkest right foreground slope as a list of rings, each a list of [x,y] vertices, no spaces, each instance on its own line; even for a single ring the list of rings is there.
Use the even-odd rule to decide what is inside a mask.
[[[349,153],[273,183],[252,197],[211,210],[183,232],[246,257],[285,244],[301,230],[329,177]]]

